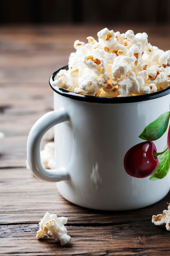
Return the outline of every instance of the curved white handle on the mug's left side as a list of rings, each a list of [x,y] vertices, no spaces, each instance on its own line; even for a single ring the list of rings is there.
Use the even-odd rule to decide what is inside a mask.
[[[31,172],[39,179],[58,182],[68,180],[69,174],[64,168],[45,169],[40,158],[40,144],[47,130],[56,124],[69,121],[69,116],[64,109],[54,110],[46,113],[31,128],[27,139],[27,161]]]

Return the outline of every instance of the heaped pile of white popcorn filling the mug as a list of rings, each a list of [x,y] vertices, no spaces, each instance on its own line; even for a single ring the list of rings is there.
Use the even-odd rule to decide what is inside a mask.
[[[121,34],[107,28],[98,41],[76,40],[68,70],[56,74],[53,86],[100,97],[148,94],[170,86],[170,50],[148,43],[148,35],[128,30]]]

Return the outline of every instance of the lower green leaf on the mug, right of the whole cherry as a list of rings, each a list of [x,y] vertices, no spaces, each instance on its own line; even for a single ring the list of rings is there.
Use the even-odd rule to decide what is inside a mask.
[[[164,149],[167,148],[167,145]],[[162,155],[159,156],[159,165],[156,171],[150,175],[150,180],[163,179],[170,170],[170,151],[167,149]]]

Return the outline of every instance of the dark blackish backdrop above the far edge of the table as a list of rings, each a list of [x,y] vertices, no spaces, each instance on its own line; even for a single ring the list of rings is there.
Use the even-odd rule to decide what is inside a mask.
[[[0,24],[170,23],[170,0],[0,0]]]

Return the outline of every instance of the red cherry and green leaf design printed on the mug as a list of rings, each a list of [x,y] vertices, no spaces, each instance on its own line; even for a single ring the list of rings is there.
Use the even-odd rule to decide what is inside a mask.
[[[170,126],[167,144],[163,151],[157,153],[153,141],[159,139],[168,129],[170,112],[160,115],[145,127],[139,138],[145,140],[130,148],[124,157],[125,171],[137,178],[150,176],[150,180],[164,178],[170,169]]]

